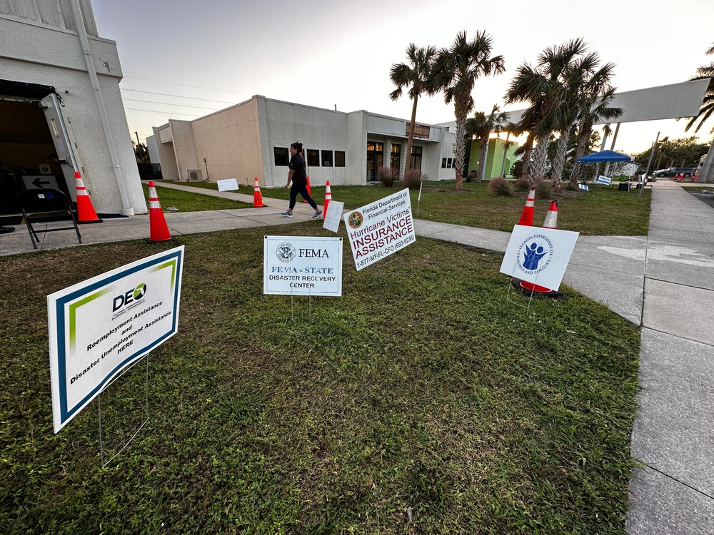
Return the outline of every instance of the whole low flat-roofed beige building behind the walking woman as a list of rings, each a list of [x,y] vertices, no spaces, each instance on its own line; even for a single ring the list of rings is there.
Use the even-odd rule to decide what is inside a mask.
[[[370,113],[313,108],[253,96],[193,121],[171,120],[147,138],[166,180],[237,178],[253,185],[282,187],[288,175],[288,148],[303,144],[313,185],[366,184],[389,167],[403,176],[408,121]],[[416,125],[412,168],[431,180],[453,180],[455,135],[446,126]]]

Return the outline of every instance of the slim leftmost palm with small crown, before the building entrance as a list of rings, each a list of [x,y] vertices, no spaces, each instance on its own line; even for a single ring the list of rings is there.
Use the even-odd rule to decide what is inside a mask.
[[[396,101],[402,95],[402,88],[411,86],[409,89],[409,98],[413,101],[411,107],[411,123],[409,125],[408,141],[406,143],[406,163],[404,171],[409,170],[411,166],[411,146],[414,142],[414,128],[416,126],[416,105],[419,101],[419,96],[422,93],[433,95],[433,91],[428,87],[429,76],[431,76],[431,68],[436,56],[436,48],[427,46],[426,48],[416,48],[416,45],[410,43],[406,49],[406,57],[409,64],[394,63],[389,78],[397,88],[389,93],[389,98]]]

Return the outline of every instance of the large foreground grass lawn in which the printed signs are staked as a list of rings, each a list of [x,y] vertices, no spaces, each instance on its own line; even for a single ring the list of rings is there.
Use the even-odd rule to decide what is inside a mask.
[[[625,534],[637,327],[568,288],[526,312],[501,254],[426,238],[360,272],[346,245],[343,297],[291,312],[264,233],[0,258],[0,533]],[[96,400],[52,431],[46,295],[178,244],[151,419],[103,469]],[[102,395],[110,453],[145,370]]]

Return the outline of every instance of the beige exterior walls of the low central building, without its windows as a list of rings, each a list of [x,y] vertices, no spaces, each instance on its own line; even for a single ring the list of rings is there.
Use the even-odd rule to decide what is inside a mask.
[[[253,96],[231,108],[209,116],[186,121],[170,121],[154,128],[164,178],[180,176],[186,180],[186,169],[206,168],[211,182],[237,178],[238,183],[252,185],[258,177],[262,187],[282,188],[288,176],[287,165],[275,165],[274,149],[287,149],[291,143],[303,144],[303,150],[344,151],[345,166],[308,166],[311,185],[363,184],[366,182],[367,133],[370,138],[400,143],[406,151],[401,119],[377,116],[367,111],[344,113],[301,104]],[[423,170],[437,178],[441,166],[443,128],[431,127],[424,146]],[[203,163],[206,158],[206,163]],[[386,163],[389,160],[385,153]],[[176,161],[176,169],[171,160]],[[405,163],[402,155],[402,165]]]

